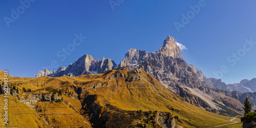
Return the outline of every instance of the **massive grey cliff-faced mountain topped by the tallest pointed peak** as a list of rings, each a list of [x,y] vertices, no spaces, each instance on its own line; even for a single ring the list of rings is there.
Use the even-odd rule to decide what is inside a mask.
[[[206,101],[192,94],[189,88],[199,88],[210,93],[210,86],[203,84],[197,73],[182,59],[181,51],[173,37],[167,36],[164,44],[156,53],[145,50],[129,49],[119,67],[130,69],[144,66],[144,70],[154,76],[162,85],[183,97],[188,103],[211,108]]]

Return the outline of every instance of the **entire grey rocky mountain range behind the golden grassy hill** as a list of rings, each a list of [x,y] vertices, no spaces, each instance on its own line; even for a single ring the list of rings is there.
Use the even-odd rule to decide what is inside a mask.
[[[157,52],[148,53],[145,50],[129,49],[125,58],[117,66],[111,59],[101,61],[92,56],[84,55],[68,68],[60,67],[57,71],[39,71],[39,76],[78,76],[81,74],[98,74],[117,67],[135,69],[140,66],[144,71],[156,78],[163,86],[183,97],[184,101],[207,111],[223,115],[239,115],[243,113],[242,97],[246,93],[236,95],[221,80],[206,78],[202,71],[194,65],[188,65],[182,58],[181,51],[173,37],[167,36],[163,46]],[[246,84],[250,83],[250,84]],[[253,87],[253,82],[244,82],[243,87]],[[234,86],[237,87],[237,86]],[[239,88],[232,89],[239,89]],[[241,86],[242,87],[242,86]],[[227,91],[230,89],[230,91]],[[252,89],[251,89],[252,90]],[[230,95],[231,94],[231,95]],[[236,97],[234,95],[236,95]],[[256,98],[251,95],[254,109]],[[256,97],[256,96],[255,96]]]

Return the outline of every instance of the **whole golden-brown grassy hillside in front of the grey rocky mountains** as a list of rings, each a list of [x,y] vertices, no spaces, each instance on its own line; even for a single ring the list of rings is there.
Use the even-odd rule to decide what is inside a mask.
[[[129,122],[130,126],[140,127],[142,124],[157,127],[158,124],[154,123],[154,120],[156,112],[159,111],[170,113],[169,115],[173,117],[178,116],[176,123],[184,127],[207,127],[231,122],[227,120],[229,118],[227,116],[210,113],[186,103],[183,98],[167,90],[141,69],[110,70],[101,74],[80,75],[74,78],[69,76],[12,77],[9,79],[9,84],[19,90],[17,97],[12,97],[17,101],[15,106],[26,106],[18,99],[33,99],[31,95],[53,94],[56,93],[54,90],[61,92],[62,101],[59,103],[55,101],[26,103],[32,106],[32,109],[27,108],[26,111],[34,113],[27,115],[37,116],[31,117],[34,119],[31,123],[37,127],[68,126],[68,124],[69,127],[82,125],[90,127],[93,122],[92,126],[96,127],[97,121],[105,123],[105,126],[111,126],[117,123],[114,121],[116,116],[129,119],[126,122]],[[25,93],[23,88],[31,89],[32,92]],[[1,107],[3,107],[2,104]],[[42,109],[41,112],[40,109]],[[112,115],[111,119],[110,115]],[[24,122],[14,120],[17,119],[10,117],[13,125],[22,125]],[[26,120],[31,121],[30,118]],[[148,122],[148,120],[151,121]],[[1,125],[2,122],[0,120]]]

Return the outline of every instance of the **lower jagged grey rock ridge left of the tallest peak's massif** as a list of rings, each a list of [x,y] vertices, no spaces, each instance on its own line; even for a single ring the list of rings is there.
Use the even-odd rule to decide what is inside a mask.
[[[63,75],[68,76],[78,76],[81,74],[98,74],[106,70],[111,70],[116,68],[117,65],[111,59],[105,59],[104,57],[99,61],[94,59],[90,55],[84,55],[80,57],[76,62],[69,64],[68,68],[62,66],[57,71],[50,71],[45,69],[45,71],[38,71],[36,78],[39,76],[50,76],[58,77]]]

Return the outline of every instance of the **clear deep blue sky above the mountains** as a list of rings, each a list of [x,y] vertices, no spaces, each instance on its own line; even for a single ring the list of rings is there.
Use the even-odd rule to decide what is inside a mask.
[[[9,70],[13,76],[34,77],[53,61],[58,67],[67,67],[84,54],[99,60],[104,56],[119,64],[128,49],[156,52],[170,35],[187,47],[182,51],[184,60],[208,78],[216,77],[212,72],[221,68],[224,70],[220,78],[225,83],[256,77],[256,44],[251,44],[252,47],[245,44],[245,39],[256,41],[255,1],[31,0],[29,3],[25,7],[19,1],[0,1],[0,70]],[[200,7],[200,3],[204,6]],[[199,6],[200,11],[195,13],[190,6]],[[12,15],[12,9],[15,12],[18,9],[19,16]],[[182,14],[190,14],[190,19],[183,22],[178,32],[174,23],[182,23]],[[87,38],[74,49],[75,34]],[[62,48],[68,47],[73,48],[72,52],[66,58],[59,57]],[[240,60],[234,60],[232,53],[238,52]]]

